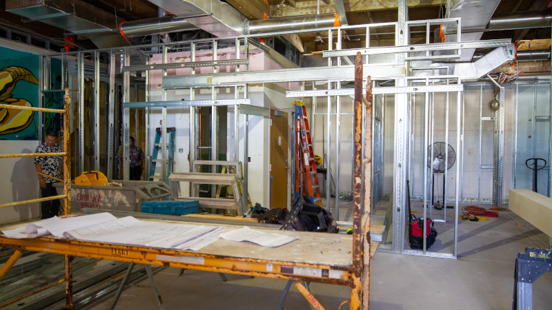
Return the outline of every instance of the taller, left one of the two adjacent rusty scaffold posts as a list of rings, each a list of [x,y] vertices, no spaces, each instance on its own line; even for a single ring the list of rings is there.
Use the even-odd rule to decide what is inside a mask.
[[[351,310],[360,307],[360,285],[358,279],[362,276],[362,56],[357,53],[355,61],[355,110],[354,110],[354,139],[353,156],[353,270],[357,279],[351,287]],[[366,196],[368,196],[368,192]]]

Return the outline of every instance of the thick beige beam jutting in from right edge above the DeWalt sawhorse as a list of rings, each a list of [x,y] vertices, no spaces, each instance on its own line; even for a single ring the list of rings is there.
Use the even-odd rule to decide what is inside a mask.
[[[552,198],[529,189],[509,189],[509,209],[552,236]]]

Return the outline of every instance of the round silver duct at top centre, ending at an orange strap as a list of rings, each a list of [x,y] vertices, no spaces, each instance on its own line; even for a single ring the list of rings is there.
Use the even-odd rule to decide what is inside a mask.
[[[244,34],[262,34],[313,28],[331,28],[341,25],[339,15],[334,13],[282,17],[278,19],[260,19],[248,21],[244,25]]]

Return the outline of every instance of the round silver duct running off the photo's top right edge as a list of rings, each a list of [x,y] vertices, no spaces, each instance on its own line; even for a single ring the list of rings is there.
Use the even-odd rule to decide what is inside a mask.
[[[551,21],[550,10],[497,13],[487,24],[486,30],[545,28],[551,26]]]

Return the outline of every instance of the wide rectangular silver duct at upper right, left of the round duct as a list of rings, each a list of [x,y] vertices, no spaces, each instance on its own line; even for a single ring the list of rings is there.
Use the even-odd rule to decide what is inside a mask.
[[[462,40],[461,41],[479,41],[483,35],[483,30],[491,20],[500,0],[448,0],[446,1],[446,18],[461,18]],[[445,25],[445,42],[457,42],[456,26]],[[481,30],[478,32],[464,33],[466,30]],[[459,61],[471,61],[475,53],[475,48],[463,49],[460,51]],[[441,54],[447,54],[442,52]]]

